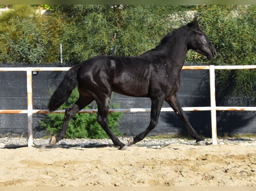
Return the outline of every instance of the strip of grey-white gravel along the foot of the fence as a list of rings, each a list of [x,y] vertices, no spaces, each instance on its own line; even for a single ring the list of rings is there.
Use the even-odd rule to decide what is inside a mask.
[[[123,143],[128,143],[130,137],[119,137],[119,140]],[[36,146],[52,147],[48,144],[49,139],[34,138],[33,144]],[[206,145],[212,144],[212,139],[205,139]],[[256,146],[256,138],[218,138],[217,143],[222,144],[242,144]],[[191,144],[196,145],[196,141],[193,139],[154,139],[145,138],[142,141],[137,142],[132,146],[145,146],[145,147],[161,147],[171,144]],[[24,137],[3,137],[0,138],[0,148],[18,148],[27,146],[27,138]],[[114,146],[111,139],[62,139],[57,142],[54,147],[106,147]]]

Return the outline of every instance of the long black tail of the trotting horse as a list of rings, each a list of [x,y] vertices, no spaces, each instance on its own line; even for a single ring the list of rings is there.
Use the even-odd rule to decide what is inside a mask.
[[[79,68],[80,64],[72,67],[64,76],[48,103],[48,110],[50,112],[57,110],[60,105],[67,101],[72,93],[72,90],[77,87],[77,72]]]

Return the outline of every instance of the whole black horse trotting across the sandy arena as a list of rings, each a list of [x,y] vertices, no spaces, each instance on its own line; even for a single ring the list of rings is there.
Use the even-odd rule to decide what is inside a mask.
[[[199,21],[199,20],[198,20]],[[189,49],[206,56],[216,58],[216,50],[198,26],[197,17],[192,22],[167,34],[159,45],[137,57],[96,56],[72,67],[59,84],[48,103],[49,111],[54,111],[71,95],[78,86],[79,98],[65,111],[63,125],[49,144],[55,144],[64,138],[70,119],[93,100],[98,105],[97,121],[119,149],[126,149],[108,126],[110,95],[119,94],[149,97],[151,99],[150,123],[145,131],[131,137],[128,146],[142,140],[157,124],[163,101],[169,103],[185,123],[190,135],[198,145],[205,145],[203,139],[190,125],[182,110],[177,91],[179,73]]]

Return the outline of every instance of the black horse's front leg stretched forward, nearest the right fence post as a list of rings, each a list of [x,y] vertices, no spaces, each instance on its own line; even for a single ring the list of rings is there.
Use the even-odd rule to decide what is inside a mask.
[[[203,141],[203,139],[198,135],[197,131],[191,126],[187,115],[185,114],[185,112],[183,111],[182,107],[179,104],[177,95],[172,95],[170,97],[168,97],[167,99],[165,99],[165,101],[167,103],[169,103],[169,105],[172,107],[172,109],[177,113],[177,115],[181,118],[181,120],[185,123],[188,132],[190,133],[191,137],[196,139],[196,142],[198,145],[200,146],[204,146],[205,142]]]

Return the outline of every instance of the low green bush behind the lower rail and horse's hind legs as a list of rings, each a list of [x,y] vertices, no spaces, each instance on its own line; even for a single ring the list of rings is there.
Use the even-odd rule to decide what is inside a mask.
[[[59,109],[66,109],[74,104],[78,99],[77,88],[72,92],[66,103],[60,106]],[[94,108],[91,103],[85,109]],[[39,121],[41,128],[46,129],[51,135],[57,134],[62,127],[64,113],[48,113],[47,116]],[[108,123],[110,129],[115,135],[120,135],[118,132],[118,121],[122,113],[109,113]],[[66,138],[108,138],[108,135],[97,122],[97,113],[77,113],[69,122],[66,132]]]

